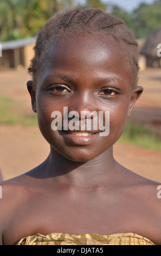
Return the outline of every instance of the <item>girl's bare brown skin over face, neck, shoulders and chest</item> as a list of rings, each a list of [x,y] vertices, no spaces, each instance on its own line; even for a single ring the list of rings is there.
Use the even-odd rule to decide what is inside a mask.
[[[136,233],[161,245],[161,199],[147,180],[113,157],[113,144],[143,88],[118,44],[102,36],[55,43],[37,77],[27,83],[50,154],[40,166],[1,184],[0,243],[36,233]],[[110,111],[110,135],[86,137],[51,130],[51,112]],[[25,146],[24,146],[25,147]],[[137,160],[136,160],[137,161]],[[146,168],[146,163],[145,163]]]

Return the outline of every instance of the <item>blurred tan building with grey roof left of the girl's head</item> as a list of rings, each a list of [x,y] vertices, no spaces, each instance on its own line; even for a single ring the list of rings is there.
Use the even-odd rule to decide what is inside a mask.
[[[33,58],[33,47],[36,38],[25,38],[0,42],[2,46],[2,57],[0,57],[1,68],[25,68],[27,69],[31,58]]]

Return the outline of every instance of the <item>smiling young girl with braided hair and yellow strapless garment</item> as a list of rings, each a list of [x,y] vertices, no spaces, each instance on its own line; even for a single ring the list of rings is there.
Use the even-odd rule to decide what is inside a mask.
[[[143,92],[138,70],[123,20],[79,8],[44,25],[27,87],[50,154],[1,183],[2,245],[161,245],[159,184],[112,151]]]

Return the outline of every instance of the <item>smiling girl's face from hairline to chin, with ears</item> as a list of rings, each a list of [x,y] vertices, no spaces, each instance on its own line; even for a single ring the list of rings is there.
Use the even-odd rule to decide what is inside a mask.
[[[39,72],[33,99],[42,135],[51,148],[67,159],[92,160],[119,139],[134,102],[141,94],[140,87],[132,93],[128,56],[113,39],[92,35],[69,36],[53,43],[48,55]],[[68,109],[67,115],[76,111],[80,124],[82,113],[89,117],[89,113],[95,111],[99,117],[99,112],[103,111],[105,125],[105,113],[110,112],[109,135],[100,136],[99,127],[88,131],[86,127],[83,131],[79,127],[75,133],[69,127],[65,130],[63,107]],[[51,129],[54,120],[51,113],[55,111],[62,115],[62,130]],[[72,119],[68,117],[67,123]]]

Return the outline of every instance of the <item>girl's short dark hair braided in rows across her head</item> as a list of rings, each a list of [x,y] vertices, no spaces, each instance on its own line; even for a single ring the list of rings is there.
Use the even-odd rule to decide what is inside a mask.
[[[43,65],[44,58],[50,48],[50,42],[57,40],[60,36],[65,38],[74,32],[90,34],[101,32],[107,36],[112,36],[120,44],[123,43],[131,66],[132,87],[137,87],[139,52],[134,33],[126,26],[124,20],[95,8],[75,8],[63,13],[56,13],[44,24],[38,33],[34,47],[35,56],[31,59],[28,68],[34,83],[36,83],[36,74]]]

